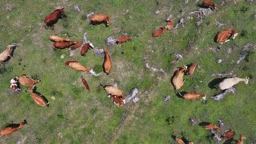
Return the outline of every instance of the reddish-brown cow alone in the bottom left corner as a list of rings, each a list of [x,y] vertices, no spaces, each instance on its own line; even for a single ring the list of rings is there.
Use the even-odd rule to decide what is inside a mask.
[[[5,136],[5,135],[11,135],[12,133],[18,131],[23,126],[25,126],[25,124],[27,124],[26,119],[19,124],[10,124],[9,126],[6,126],[5,128],[0,129],[0,137]]]

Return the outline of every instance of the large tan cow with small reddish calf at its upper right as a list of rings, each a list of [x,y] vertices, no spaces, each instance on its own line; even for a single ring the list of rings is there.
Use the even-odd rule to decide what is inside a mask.
[[[173,84],[175,90],[179,90],[183,86],[183,84],[184,84],[184,81],[183,81],[184,73],[183,72],[185,72],[185,71],[187,71],[187,68],[183,66],[182,68],[180,68],[179,70],[174,72],[174,76],[172,78],[172,84]]]

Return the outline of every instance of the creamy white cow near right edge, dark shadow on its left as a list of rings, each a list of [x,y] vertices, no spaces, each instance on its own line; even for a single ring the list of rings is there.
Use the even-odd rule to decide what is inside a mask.
[[[217,84],[216,87],[219,88],[220,90],[226,90],[238,84],[240,81],[243,81],[245,84],[247,84],[249,81],[249,78],[240,79],[235,77],[235,78],[224,79],[219,84]]]

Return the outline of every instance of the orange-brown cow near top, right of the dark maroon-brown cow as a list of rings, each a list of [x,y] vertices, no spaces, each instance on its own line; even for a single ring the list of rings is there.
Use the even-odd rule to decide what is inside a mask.
[[[97,14],[91,17],[91,24],[93,25],[105,23],[106,27],[109,27],[110,22],[110,17],[104,14]]]

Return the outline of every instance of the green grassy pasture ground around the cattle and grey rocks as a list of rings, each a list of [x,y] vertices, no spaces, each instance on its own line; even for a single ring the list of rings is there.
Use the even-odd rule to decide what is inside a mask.
[[[183,0],[0,0],[0,51],[11,43],[18,44],[14,58],[0,65],[0,128],[23,119],[28,123],[13,135],[0,137],[0,144],[16,144],[18,140],[21,144],[176,144],[172,135],[194,144],[216,144],[208,130],[190,125],[190,117],[198,123],[218,124],[221,119],[222,134],[233,129],[235,140],[242,133],[247,137],[244,144],[256,144],[256,3],[213,1],[219,8],[195,26],[198,18],[189,13],[199,9],[201,0],[189,0],[188,4]],[[77,4],[81,12],[74,9]],[[59,19],[54,29],[45,29],[44,18],[58,6],[64,7],[67,17]],[[160,13],[155,14],[156,10]],[[110,16],[110,27],[89,25],[86,15],[90,12]],[[170,14],[174,25],[184,18],[184,27],[152,37]],[[218,27],[216,21],[226,25]],[[219,45],[214,36],[227,28],[237,30],[237,38],[222,45],[219,52],[210,50]],[[95,77],[65,66],[65,61],[77,60],[102,72],[104,59],[93,50],[85,57],[79,52],[70,57],[67,49],[54,51],[48,38],[59,35],[82,40],[86,31],[96,48],[106,47],[109,36],[127,33],[133,37],[122,45],[108,46],[113,62],[110,75]],[[254,48],[237,64],[247,43]],[[172,63],[174,53],[183,54],[176,64]],[[217,63],[218,59],[222,63]],[[184,76],[183,88],[174,90],[171,77],[175,69],[194,62],[198,63],[194,74]],[[146,63],[157,71],[147,69]],[[161,68],[166,74],[158,71]],[[210,97],[220,90],[212,89],[210,82],[219,76],[212,74],[230,72],[251,79],[247,85],[238,83],[235,95],[214,101]],[[22,74],[41,80],[36,90],[49,100],[49,107],[37,106],[27,87],[20,92],[9,89],[10,80]],[[84,88],[81,76],[91,91]],[[117,83],[125,94],[137,88],[139,102],[118,108],[100,83]],[[177,96],[180,91],[205,93],[206,100],[181,99]],[[167,102],[163,101],[165,95],[171,96]]]

